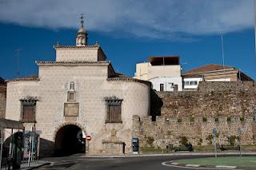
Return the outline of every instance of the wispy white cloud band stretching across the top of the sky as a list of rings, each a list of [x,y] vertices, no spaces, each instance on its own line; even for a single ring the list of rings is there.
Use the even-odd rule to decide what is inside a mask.
[[[81,13],[87,30],[145,38],[219,34],[254,24],[253,0],[0,1],[0,22],[22,26],[78,28]]]

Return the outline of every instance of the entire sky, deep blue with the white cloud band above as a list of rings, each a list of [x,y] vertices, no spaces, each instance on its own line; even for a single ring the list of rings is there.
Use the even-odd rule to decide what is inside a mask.
[[[79,14],[89,44],[102,46],[118,72],[134,75],[148,56],[179,55],[183,70],[210,63],[242,69],[256,78],[252,0],[94,0],[0,2],[0,77],[38,73],[34,61],[54,61],[52,46],[74,45]]]

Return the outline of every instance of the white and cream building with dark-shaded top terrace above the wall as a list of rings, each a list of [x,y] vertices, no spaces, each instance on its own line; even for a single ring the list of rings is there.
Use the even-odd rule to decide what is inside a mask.
[[[182,91],[178,56],[148,57],[148,62],[136,65],[134,78],[150,81],[157,91]]]

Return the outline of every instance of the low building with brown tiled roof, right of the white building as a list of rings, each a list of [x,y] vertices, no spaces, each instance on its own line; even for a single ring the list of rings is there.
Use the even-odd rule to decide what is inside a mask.
[[[254,81],[240,69],[228,65],[202,65],[182,73],[183,88],[197,89],[200,81]]]

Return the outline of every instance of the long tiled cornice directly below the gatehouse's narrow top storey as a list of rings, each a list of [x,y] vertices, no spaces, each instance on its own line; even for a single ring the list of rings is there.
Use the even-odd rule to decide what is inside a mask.
[[[38,65],[79,65],[79,64],[100,64],[100,65],[105,65],[105,64],[110,64],[110,61],[35,61],[36,64]]]

